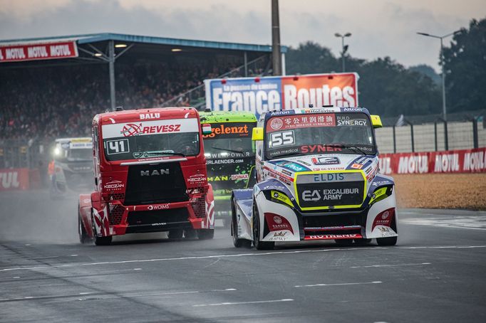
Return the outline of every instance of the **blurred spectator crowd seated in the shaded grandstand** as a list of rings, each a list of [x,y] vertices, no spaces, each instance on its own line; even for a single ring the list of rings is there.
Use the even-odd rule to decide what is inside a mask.
[[[116,104],[125,109],[161,106],[227,70],[117,63]],[[89,136],[93,116],[110,109],[107,64],[0,69],[0,80],[0,140]]]

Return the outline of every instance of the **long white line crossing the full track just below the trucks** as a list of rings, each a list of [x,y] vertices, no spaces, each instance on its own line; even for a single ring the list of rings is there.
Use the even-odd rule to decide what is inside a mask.
[[[174,261],[174,260],[197,260],[197,259],[212,259],[212,258],[233,258],[233,257],[258,257],[265,255],[286,255],[295,253],[326,253],[331,251],[354,251],[354,250],[376,250],[383,249],[445,249],[445,248],[486,248],[486,245],[444,245],[444,246],[416,246],[416,247],[361,247],[361,248],[332,248],[332,249],[316,249],[316,250],[291,250],[291,251],[272,251],[268,253],[237,253],[232,255],[200,255],[192,257],[177,257],[177,258],[155,258],[155,259],[139,259],[139,260],[118,260],[118,261],[105,261],[102,263],[68,263],[63,265],[43,265],[33,267],[16,267],[16,268],[3,268],[0,272],[14,271],[14,270],[52,270],[56,268],[76,268],[86,266],[98,266],[98,265],[120,265],[125,263],[155,263],[161,261]]]

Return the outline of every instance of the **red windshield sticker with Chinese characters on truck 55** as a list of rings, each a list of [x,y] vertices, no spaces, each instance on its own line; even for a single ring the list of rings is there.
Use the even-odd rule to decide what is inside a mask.
[[[267,127],[267,132],[305,127],[335,126],[336,116],[334,114],[294,115],[291,117],[272,117],[272,119],[270,119],[269,121],[269,127]]]

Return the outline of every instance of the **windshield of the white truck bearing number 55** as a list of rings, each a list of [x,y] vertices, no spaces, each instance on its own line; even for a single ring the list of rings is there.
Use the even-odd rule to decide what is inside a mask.
[[[267,159],[305,154],[376,154],[364,113],[315,113],[272,117],[265,127]]]

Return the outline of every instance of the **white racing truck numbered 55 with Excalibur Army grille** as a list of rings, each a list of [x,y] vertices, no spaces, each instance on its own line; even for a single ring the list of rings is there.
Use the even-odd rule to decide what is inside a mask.
[[[361,107],[282,110],[261,115],[257,184],[232,194],[235,247],[276,241],[336,240],[395,245],[395,184],[378,174],[374,129]]]

